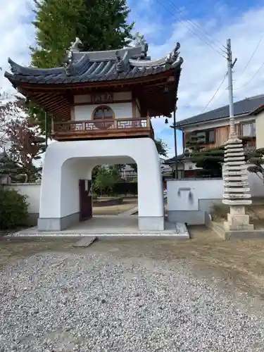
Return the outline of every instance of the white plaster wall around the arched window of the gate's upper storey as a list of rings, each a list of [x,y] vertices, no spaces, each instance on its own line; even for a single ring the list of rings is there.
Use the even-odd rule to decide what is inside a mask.
[[[75,103],[91,103],[91,95],[83,94],[76,95],[74,97]],[[118,103],[101,103],[92,105],[77,105],[74,107],[74,120],[92,120],[92,113],[95,108],[101,105],[106,105],[111,108],[115,114],[115,118],[132,118],[132,103],[127,102],[127,100],[132,99],[131,92],[115,92],[113,93],[113,101],[118,101]],[[122,102],[126,101],[126,102]]]

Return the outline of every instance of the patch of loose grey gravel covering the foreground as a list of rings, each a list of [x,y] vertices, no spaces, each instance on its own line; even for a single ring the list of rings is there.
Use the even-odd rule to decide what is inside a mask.
[[[42,253],[0,272],[0,351],[264,351],[264,319],[177,260]]]

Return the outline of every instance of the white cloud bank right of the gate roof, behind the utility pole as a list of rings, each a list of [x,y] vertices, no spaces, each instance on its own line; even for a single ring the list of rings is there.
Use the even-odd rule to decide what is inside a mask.
[[[167,8],[170,9],[171,13],[175,13],[177,17],[180,17],[175,8],[172,6],[169,7],[168,4]],[[234,66],[233,77],[234,101],[238,101],[247,96],[264,93],[264,66],[258,75],[256,75],[249,84],[243,87],[264,62],[264,37],[251,63],[241,76],[246,63],[256,49],[260,37],[264,34],[264,6],[252,8],[250,11],[246,11],[243,14],[237,14],[237,16],[233,15],[232,18],[228,15],[228,11],[229,8],[227,6],[222,6],[218,3],[213,12],[214,16],[210,18],[210,21],[203,22],[195,18],[192,18],[191,21],[192,23],[197,23],[207,33],[210,33],[210,35],[217,40],[214,42],[219,46],[220,44],[218,42],[225,46],[227,39],[232,39],[233,58],[238,58]],[[220,56],[220,54],[211,49],[210,46],[202,42],[201,39],[187,29],[186,26],[190,27],[189,23],[176,21],[172,15],[170,16],[170,20],[174,22],[171,25],[171,32],[167,30],[167,32],[170,33],[170,37],[161,45],[151,43],[153,42],[151,38],[151,40],[149,40],[149,51],[153,58],[158,58],[172,50],[176,42],[180,42],[181,44],[180,52],[184,63],[182,65],[182,75],[180,77],[178,91],[177,120],[182,120],[203,111],[203,108],[210,101],[227,71],[227,62],[225,58]],[[190,18],[188,18],[188,20],[190,20]],[[137,25],[137,18],[135,21]],[[166,24],[168,24],[168,20]],[[151,27],[152,26],[151,24]],[[137,27],[137,30],[140,31],[141,28]],[[194,27],[191,27],[191,30],[199,34],[199,36],[202,36],[201,31],[195,30]],[[158,35],[158,32],[156,32],[156,35]],[[146,38],[148,39],[148,35],[146,35]],[[217,47],[215,49],[219,51]],[[239,87],[242,88],[236,89]],[[221,89],[218,94],[216,94],[213,102],[206,108],[206,111],[228,103],[226,88],[227,80],[222,84]],[[153,127],[158,137],[163,137],[163,130],[169,128],[165,127],[164,119],[153,120]],[[164,134],[164,139],[167,140],[171,147],[170,156],[172,156],[172,154],[174,154],[172,130],[171,134]],[[180,144],[179,149],[181,150]]]

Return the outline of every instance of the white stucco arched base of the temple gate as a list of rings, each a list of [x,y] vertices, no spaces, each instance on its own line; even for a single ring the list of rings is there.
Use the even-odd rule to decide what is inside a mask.
[[[62,218],[79,212],[77,181],[90,178],[94,166],[134,162],[139,217],[163,216],[161,165],[155,143],[150,138],[135,138],[51,144],[43,165],[39,218]]]

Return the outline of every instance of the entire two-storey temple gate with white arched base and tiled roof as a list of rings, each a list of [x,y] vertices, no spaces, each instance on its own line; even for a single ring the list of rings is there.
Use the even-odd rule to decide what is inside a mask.
[[[84,220],[89,228],[94,166],[131,163],[137,163],[137,226],[162,231],[161,162],[151,118],[175,110],[180,44],[155,60],[143,36],[123,49],[80,51],[79,44],[76,38],[59,68],[23,67],[9,59],[12,73],[5,73],[52,118],[58,141],[44,158],[38,231],[57,232]]]

